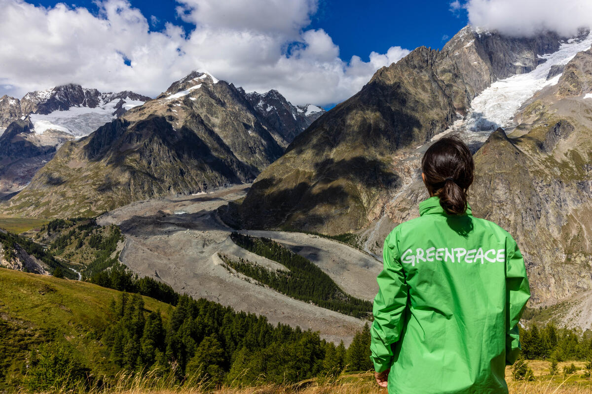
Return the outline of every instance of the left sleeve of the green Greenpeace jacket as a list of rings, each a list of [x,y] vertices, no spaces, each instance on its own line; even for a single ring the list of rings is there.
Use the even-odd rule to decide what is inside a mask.
[[[399,339],[407,306],[407,283],[394,232],[385,239],[382,255],[384,267],[377,278],[378,294],[374,298],[372,308],[374,322],[372,322],[370,344],[370,358],[377,372],[383,372],[391,367],[391,344]]]

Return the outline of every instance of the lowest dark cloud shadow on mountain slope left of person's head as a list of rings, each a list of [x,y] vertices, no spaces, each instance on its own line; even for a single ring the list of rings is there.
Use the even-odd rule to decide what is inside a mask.
[[[218,213],[233,227],[265,229],[289,220],[291,226],[309,230],[323,226],[334,216],[357,210],[352,220],[343,223],[346,228],[354,222],[352,225],[357,226],[369,208],[360,187],[378,191],[401,183],[384,162],[365,157],[326,159],[315,169],[314,178],[301,180],[292,187],[280,188],[289,184],[286,178],[263,178],[253,184],[243,204],[230,203]],[[269,193],[270,190],[273,191]]]

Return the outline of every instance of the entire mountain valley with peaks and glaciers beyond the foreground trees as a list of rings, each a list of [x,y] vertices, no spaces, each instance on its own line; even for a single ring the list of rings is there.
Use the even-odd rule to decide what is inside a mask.
[[[525,324],[591,330],[591,45],[467,26],[327,112],[205,71],[154,99],[73,84],[2,97],[0,213],[45,224],[0,233],[0,264],[119,290],[137,274],[348,346],[382,241],[427,198],[420,159],[454,133],[474,152],[474,215],[525,256]]]

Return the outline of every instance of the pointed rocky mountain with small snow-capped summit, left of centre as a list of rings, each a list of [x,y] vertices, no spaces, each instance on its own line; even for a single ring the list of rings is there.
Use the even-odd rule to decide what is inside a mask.
[[[5,212],[81,216],[163,194],[252,181],[288,143],[243,92],[194,72],[67,142]]]

